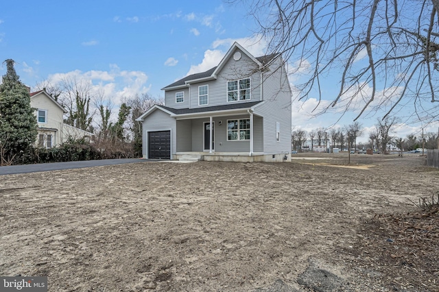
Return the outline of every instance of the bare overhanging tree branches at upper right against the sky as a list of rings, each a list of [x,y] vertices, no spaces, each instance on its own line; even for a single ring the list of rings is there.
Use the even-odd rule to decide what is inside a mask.
[[[438,116],[439,1],[228,0],[244,5],[258,23],[267,53],[283,53],[296,73],[299,99],[318,95],[322,80],[339,73],[334,106],[384,110],[384,117],[408,106],[417,119]],[[293,72],[294,73],[294,72]],[[428,102],[427,102],[428,101]],[[355,121],[354,120],[354,121]]]

